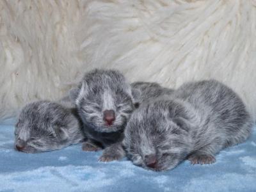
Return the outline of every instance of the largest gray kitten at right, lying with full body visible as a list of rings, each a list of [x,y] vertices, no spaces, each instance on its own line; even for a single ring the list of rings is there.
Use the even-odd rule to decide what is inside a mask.
[[[125,129],[124,146],[134,164],[150,170],[214,163],[221,149],[241,143],[252,130],[242,100],[218,81],[186,83],[143,104]]]

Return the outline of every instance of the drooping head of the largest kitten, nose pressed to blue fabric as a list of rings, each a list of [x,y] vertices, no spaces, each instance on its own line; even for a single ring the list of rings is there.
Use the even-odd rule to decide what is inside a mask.
[[[154,171],[169,170],[188,155],[189,124],[170,109],[183,110],[174,102],[159,100],[132,113],[124,147],[134,164]]]

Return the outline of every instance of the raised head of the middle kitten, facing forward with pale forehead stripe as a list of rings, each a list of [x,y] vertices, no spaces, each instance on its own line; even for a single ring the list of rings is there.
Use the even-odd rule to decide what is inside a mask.
[[[95,131],[124,129],[133,111],[131,86],[115,70],[88,72],[79,85],[76,105],[84,124]]]

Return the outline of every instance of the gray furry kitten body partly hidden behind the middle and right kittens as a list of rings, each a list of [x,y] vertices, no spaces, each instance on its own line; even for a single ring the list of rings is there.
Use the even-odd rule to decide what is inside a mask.
[[[142,102],[148,102],[148,100],[173,93],[173,89],[164,88],[158,83],[138,81],[132,83],[131,87],[135,108],[139,108]]]

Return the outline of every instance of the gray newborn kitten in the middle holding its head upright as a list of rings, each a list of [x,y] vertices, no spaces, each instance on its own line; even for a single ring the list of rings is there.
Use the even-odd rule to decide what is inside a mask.
[[[92,70],[85,74],[73,98],[88,135],[83,150],[104,148],[100,161],[124,157],[120,142],[134,108],[125,77],[115,70]]]

